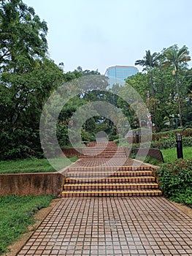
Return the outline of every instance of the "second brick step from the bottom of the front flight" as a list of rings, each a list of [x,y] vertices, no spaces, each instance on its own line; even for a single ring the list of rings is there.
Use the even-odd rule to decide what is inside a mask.
[[[158,184],[153,183],[111,183],[111,184],[64,184],[64,190],[80,190],[80,191],[92,191],[92,190],[122,190],[122,189],[158,189]]]

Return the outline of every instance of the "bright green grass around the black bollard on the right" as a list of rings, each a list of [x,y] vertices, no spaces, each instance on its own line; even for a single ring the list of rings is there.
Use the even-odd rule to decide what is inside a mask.
[[[164,156],[164,162],[172,163],[175,160],[177,160],[177,149],[176,148],[161,149],[161,152]],[[184,159],[192,159],[192,147],[183,148],[183,158]]]

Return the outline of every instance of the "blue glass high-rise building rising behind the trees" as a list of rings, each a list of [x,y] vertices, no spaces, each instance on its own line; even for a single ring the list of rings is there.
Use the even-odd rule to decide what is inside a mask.
[[[114,84],[124,86],[126,78],[137,74],[137,72],[139,72],[139,70],[134,66],[113,66],[108,67],[104,75],[109,78],[108,88],[112,88]]]

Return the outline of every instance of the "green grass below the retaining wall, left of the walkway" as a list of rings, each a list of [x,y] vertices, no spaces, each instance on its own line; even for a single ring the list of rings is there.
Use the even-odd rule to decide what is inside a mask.
[[[0,254],[6,252],[7,246],[27,231],[28,225],[34,223],[34,214],[49,206],[52,199],[50,195],[0,197]]]

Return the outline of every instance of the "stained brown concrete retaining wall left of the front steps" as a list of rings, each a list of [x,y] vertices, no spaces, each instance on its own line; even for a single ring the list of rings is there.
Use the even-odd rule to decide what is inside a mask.
[[[2,195],[55,195],[61,194],[64,176],[61,173],[14,173],[0,175]]]

